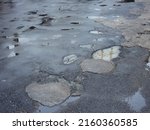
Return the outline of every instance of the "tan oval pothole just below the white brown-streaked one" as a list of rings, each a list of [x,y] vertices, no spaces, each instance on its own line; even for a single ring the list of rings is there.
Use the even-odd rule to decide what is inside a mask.
[[[81,63],[81,68],[83,72],[101,74],[111,72],[115,68],[115,65],[112,62],[104,60],[86,59]]]

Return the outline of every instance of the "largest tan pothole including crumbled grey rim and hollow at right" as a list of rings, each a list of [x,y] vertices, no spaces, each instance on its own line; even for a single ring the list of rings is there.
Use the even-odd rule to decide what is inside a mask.
[[[26,87],[28,96],[41,103],[44,106],[59,105],[72,96],[80,96],[83,92],[81,84],[68,82],[58,76],[50,75],[45,78],[46,81],[34,82]]]

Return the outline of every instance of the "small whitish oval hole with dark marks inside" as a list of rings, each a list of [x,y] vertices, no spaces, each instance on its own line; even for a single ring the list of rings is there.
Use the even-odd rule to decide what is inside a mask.
[[[78,57],[76,55],[72,54],[69,56],[65,56],[63,59],[63,62],[64,62],[64,64],[69,65],[69,64],[75,62],[77,59],[78,59]]]

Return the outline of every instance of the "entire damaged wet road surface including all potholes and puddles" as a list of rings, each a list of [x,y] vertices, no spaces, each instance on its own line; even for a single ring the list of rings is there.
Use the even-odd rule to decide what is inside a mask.
[[[0,112],[150,112],[148,0],[1,0]]]

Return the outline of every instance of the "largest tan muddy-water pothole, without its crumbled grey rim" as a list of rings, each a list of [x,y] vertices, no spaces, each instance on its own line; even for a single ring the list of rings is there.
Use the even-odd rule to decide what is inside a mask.
[[[45,106],[54,106],[70,96],[70,86],[64,81],[47,84],[35,82],[26,87],[26,92],[33,100]]]

